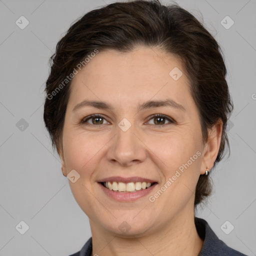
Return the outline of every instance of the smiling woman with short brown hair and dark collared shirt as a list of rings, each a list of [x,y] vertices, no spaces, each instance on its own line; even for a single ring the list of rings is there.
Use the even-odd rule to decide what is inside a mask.
[[[86,13],[57,43],[44,121],[92,237],[74,255],[244,255],[194,209],[233,105],[215,39],[159,1]]]

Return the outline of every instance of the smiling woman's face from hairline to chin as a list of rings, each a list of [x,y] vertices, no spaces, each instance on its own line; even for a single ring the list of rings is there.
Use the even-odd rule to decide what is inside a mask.
[[[197,180],[214,159],[205,164],[188,85],[177,58],[142,46],[128,53],[99,51],[74,76],[62,168],[65,174],[72,170],[71,191],[92,228],[140,235],[193,218]],[[112,189],[135,191],[110,190],[104,180],[117,182]],[[153,185],[140,189],[143,180]]]

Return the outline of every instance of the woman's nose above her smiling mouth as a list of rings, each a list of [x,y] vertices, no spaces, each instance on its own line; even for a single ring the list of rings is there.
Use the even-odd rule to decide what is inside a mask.
[[[110,140],[107,152],[107,160],[118,162],[122,166],[130,166],[139,163],[146,158],[146,146],[139,138],[139,132],[135,125],[127,130],[116,125],[116,134]]]

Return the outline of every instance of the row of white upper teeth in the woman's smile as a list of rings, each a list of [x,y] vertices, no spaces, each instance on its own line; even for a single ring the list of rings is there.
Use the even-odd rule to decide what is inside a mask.
[[[112,183],[110,181],[104,182],[104,186],[110,190],[119,191],[119,192],[133,192],[136,190],[146,189],[147,187],[151,186],[152,183],[150,182],[116,182],[113,181]]]

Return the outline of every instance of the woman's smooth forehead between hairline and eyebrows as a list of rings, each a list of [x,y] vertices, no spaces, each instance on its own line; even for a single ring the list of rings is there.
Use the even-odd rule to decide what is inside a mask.
[[[181,76],[173,79],[175,74]],[[185,106],[191,100],[188,86],[182,62],[174,55],[143,46],[125,53],[108,49],[99,51],[73,77],[69,100],[118,97],[126,104],[168,96]]]

